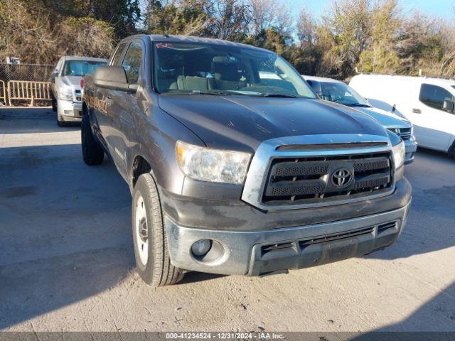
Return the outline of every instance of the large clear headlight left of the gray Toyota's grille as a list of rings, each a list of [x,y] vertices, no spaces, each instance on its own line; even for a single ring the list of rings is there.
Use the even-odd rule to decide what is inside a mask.
[[[243,183],[251,158],[250,153],[203,148],[181,141],[177,141],[176,153],[185,175],[213,183]]]

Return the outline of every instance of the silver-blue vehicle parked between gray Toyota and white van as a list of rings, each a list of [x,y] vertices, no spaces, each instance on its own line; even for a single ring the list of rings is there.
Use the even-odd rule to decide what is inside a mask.
[[[368,100],[360,96],[352,87],[339,80],[332,78],[314,77],[302,75],[306,82],[313,88],[321,99],[336,102],[348,107],[353,107],[360,112],[377,119],[385,128],[393,131],[405,141],[405,163],[414,161],[414,153],[417,151],[417,142],[413,134],[413,126],[404,117],[399,117],[392,112],[372,107]]]

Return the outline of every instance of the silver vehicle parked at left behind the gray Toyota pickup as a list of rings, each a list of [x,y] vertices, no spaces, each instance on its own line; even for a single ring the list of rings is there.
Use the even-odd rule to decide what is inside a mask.
[[[81,121],[82,95],[80,82],[87,73],[92,73],[100,65],[106,65],[103,58],[70,57],[64,55],[50,75],[52,88],[52,109],[57,112],[57,124]]]

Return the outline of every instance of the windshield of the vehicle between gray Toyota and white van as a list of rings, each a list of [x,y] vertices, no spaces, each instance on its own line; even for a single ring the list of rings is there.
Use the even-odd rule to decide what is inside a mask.
[[[336,102],[351,107],[370,107],[365,98],[360,96],[352,87],[339,82],[317,82],[308,81],[316,94],[326,101]]]

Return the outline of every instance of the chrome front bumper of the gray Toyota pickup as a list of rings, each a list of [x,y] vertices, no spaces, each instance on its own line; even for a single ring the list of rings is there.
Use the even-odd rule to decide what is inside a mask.
[[[365,217],[259,231],[183,227],[168,216],[165,224],[174,266],[213,274],[258,276],[363,256],[387,247],[405,226],[409,207],[410,202],[400,209]],[[200,239],[218,242],[222,252],[206,257],[208,260],[196,259],[191,246]]]

